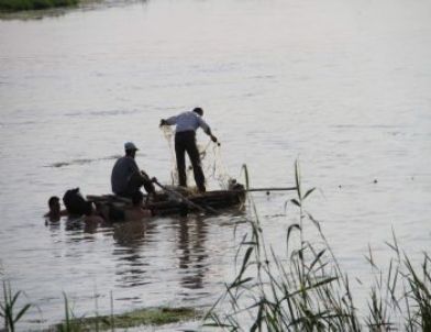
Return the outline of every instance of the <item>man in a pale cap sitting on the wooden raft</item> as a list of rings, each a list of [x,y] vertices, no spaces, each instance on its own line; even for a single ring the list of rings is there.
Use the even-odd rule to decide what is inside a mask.
[[[144,186],[146,192],[155,195],[153,181],[148,175],[140,170],[135,162],[139,148],[132,143],[124,144],[125,155],[115,162],[111,174],[112,192],[118,196],[132,198],[141,187]]]

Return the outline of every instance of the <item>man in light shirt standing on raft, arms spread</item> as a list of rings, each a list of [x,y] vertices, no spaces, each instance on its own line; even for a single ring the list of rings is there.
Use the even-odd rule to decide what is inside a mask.
[[[179,186],[187,187],[186,152],[194,167],[195,181],[198,190],[206,191],[205,175],[200,163],[198,146],[196,145],[196,131],[201,128],[212,142],[217,137],[212,134],[210,126],[203,121],[203,110],[196,108],[192,111],[183,112],[176,117],[161,120],[162,125],[176,125],[175,130],[175,155],[177,158]]]

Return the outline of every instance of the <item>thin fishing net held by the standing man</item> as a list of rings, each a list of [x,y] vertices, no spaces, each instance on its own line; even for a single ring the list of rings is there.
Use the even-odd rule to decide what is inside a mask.
[[[175,157],[175,131],[172,126],[162,125],[162,133],[168,144],[168,148],[170,152],[170,179],[172,185],[178,185],[178,171],[177,171],[177,163]],[[211,140],[206,145],[198,144],[198,150],[200,154],[200,161],[202,165],[202,170],[206,176],[206,185],[209,182],[217,182],[221,189],[229,189],[231,176],[226,167],[224,166],[221,145],[219,143],[213,143]],[[194,169],[191,165],[189,165],[189,159],[186,157],[187,163],[187,179],[188,182],[194,179]]]

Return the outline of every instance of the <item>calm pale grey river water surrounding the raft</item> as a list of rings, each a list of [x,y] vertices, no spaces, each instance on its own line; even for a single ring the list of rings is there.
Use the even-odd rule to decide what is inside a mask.
[[[393,230],[429,252],[430,58],[428,0],[151,0],[0,21],[0,268],[34,305],[21,329],[62,320],[63,292],[77,316],[109,312],[111,292],[115,312],[217,299],[247,209],[97,229],[42,218],[66,189],[109,192],[126,141],[168,182],[159,119],[196,106],[240,181],[246,164],[252,187],[294,186],[300,161],[318,188],[307,209],[352,277],[369,273],[368,244],[386,262]],[[295,195],[253,197],[281,250]]]

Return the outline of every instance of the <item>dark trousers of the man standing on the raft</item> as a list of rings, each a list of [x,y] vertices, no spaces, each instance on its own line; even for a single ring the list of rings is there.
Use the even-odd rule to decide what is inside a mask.
[[[199,151],[196,145],[195,131],[179,132],[175,134],[175,154],[177,157],[179,186],[187,187],[186,152],[194,167],[195,181],[199,191],[205,191],[205,176],[200,165]]]

